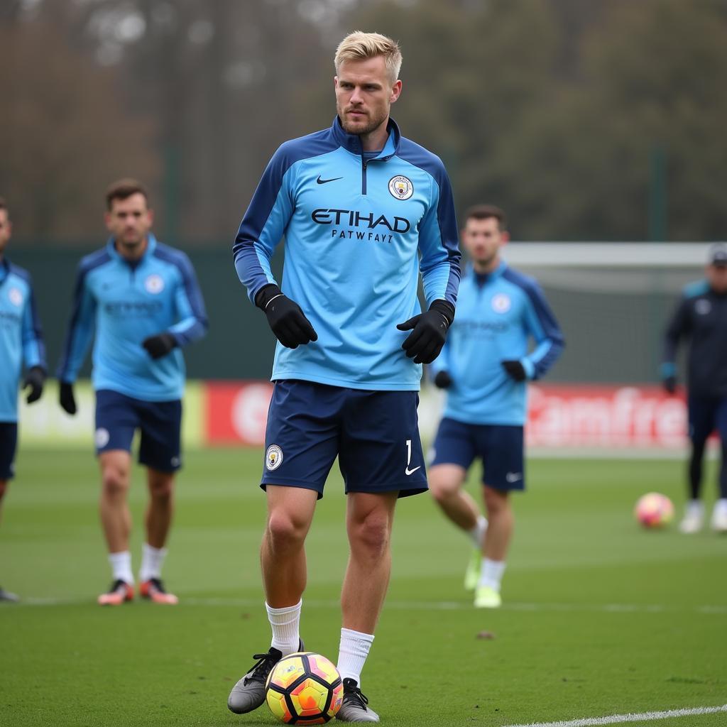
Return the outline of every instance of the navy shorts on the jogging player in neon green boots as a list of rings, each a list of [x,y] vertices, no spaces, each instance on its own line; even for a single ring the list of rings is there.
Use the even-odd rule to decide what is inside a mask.
[[[459,465],[465,470],[482,459],[482,483],[497,490],[524,490],[523,427],[465,424],[445,417],[434,440],[434,465]]]

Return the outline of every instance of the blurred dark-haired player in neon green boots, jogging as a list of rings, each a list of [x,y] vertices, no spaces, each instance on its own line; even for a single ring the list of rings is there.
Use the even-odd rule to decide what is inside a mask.
[[[467,212],[462,244],[471,266],[462,277],[457,320],[431,369],[447,397],[429,486],[443,513],[473,540],[465,587],[475,590],[478,608],[502,603],[514,526],[510,491],[525,489],[527,382],[542,377],[563,350],[563,335],[537,282],[501,257],[508,239],[501,209],[479,205]],[[462,489],[475,457],[483,465],[487,518]]]

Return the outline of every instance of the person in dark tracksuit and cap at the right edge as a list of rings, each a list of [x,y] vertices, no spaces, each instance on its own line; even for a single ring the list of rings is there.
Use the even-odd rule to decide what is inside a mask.
[[[719,498],[712,510],[712,529],[727,532],[727,244],[710,247],[704,280],[686,286],[664,334],[662,382],[677,387],[676,355],[688,339],[687,399],[691,454],[689,500],[679,529],[696,533],[704,524],[702,461],[707,438],[716,429],[722,446]]]

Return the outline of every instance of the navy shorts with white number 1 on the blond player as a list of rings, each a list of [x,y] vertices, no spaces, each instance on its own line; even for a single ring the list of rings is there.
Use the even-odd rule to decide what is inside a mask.
[[[417,391],[369,391],[308,381],[277,381],[268,409],[260,486],[316,490],[338,457],[345,491],[427,489]]]

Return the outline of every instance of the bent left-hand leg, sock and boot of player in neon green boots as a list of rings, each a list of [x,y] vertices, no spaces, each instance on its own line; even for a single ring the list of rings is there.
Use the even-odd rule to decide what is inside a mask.
[[[462,489],[467,470],[459,465],[435,465],[429,470],[429,489],[442,512],[473,540],[473,551],[465,571],[465,588],[475,590],[480,578],[483,538],[487,521],[477,503]]]

